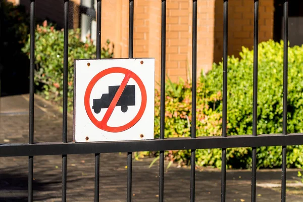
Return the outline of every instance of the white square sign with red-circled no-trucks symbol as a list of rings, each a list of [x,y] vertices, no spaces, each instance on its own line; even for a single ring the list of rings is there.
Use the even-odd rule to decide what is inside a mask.
[[[75,142],[154,139],[155,59],[75,60]]]

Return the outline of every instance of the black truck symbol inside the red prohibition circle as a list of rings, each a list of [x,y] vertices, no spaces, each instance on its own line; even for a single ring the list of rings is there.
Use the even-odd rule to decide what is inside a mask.
[[[119,85],[109,86],[109,93],[102,94],[101,98],[93,99],[94,113],[100,113],[102,108],[109,108],[119,89]],[[135,106],[135,85],[126,85],[116,105],[121,106],[122,112],[127,112],[128,106]]]

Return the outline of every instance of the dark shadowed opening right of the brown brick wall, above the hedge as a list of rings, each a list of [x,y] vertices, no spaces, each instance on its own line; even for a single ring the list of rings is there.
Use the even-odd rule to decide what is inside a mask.
[[[275,0],[274,40],[283,39],[283,4],[284,0]],[[289,1],[288,40],[290,46],[303,44],[303,1]]]

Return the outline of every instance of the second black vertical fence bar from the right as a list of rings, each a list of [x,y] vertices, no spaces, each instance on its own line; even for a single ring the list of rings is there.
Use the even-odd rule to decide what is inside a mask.
[[[258,123],[258,41],[259,41],[259,0],[254,4],[254,93],[252,109],[252,135],[257,136]],[[251,165],[251,202],[256,201],[256,183],[257,183],[257,147],[252,147],[252,165]]]

